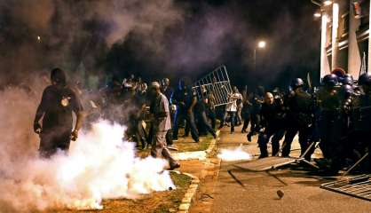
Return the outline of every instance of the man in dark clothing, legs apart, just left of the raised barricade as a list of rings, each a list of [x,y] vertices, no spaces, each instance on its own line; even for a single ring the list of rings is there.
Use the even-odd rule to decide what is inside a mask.
[[[193,114],[193,107],[197,103],[197,98],[193,94],[192,89],[187,87],[184,81],[179,81],[178,90],[174,92],[171,102],[178,106],[174,118],[173,139],[178,140],[179,125],[182,121],[186,120],[193,140],[199,142],[199,133],[194,122]]]

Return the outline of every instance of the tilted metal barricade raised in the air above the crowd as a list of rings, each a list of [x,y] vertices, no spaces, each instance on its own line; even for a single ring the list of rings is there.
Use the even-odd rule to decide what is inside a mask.
[[[231,103],[229,96],[232,94],[232,87],[224,65],[217,67],[214,71],[193,83],[192,89],[199,98],[213,96],[215,106]]]

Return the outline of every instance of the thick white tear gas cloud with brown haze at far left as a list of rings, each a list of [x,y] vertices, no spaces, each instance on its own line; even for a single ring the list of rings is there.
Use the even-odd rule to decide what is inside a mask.
[[[110,122],[96,122],[82,132],[68,155],[37,158],[39,139],[32,121],[43,88],[39,84],[0,91],[1,212],[99,209],[102,199],[135,198],[175,187],[162,172],[166,162],[137,158],[133,143],[122,142],[125,128]]]

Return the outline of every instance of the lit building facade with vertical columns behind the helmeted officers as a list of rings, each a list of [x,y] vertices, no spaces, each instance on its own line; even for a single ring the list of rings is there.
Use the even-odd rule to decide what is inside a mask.
[[[321,14],[320,76],[342,68],[358,79],[370,69],[370,0],[317,3]]]

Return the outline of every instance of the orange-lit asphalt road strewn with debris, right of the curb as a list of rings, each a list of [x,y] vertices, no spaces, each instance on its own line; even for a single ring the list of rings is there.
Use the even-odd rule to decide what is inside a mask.
[[[236,132],[239,132],[236,130]],[[240,146],[250,154],[259,154],[257,137],[246,143],[246,134],[231,135],[222,130],[218,148]],[[293,143],[298,148],[297,141]],[[298,155],[293,153],[292,155]],[[268,172],[251,172],[222,162],[213,194],[211,212],[300,212],[370,213],[371,201],[364,201],[320,188],[335,177],[313,177],[299,165]],[[232,175],[231,175],[232,174]],[[280,199],[277,191],[284,195]]]

